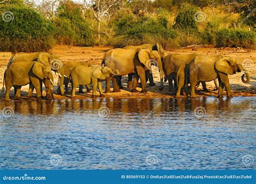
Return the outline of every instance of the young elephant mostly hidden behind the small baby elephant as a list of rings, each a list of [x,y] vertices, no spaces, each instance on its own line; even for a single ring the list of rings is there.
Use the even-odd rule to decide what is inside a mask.
[[[69,62],[65,62],[64,65],[63,65],[63,68],[64,68],[64,76],[65,76],[65,79],[64,79],[64,85],[65,85],[65,93],[69,93],[69,88],[68,88],[68,84],[70,82],[70,74],[72,72],[72,70],[74,68],[76,68],[78,65],[83,65],[83,66],[86,66],[86,67],[92,67],[92,65],[90,63],[87,63],[85,61],[69,61]],[[59,86],[60,88],[60,86]],[[60,89],[57,89],[58,91]],[[91,89],[90,89],[90,85],[86,85],[86,88],[87,88],[87,91],[90,92]],[[79,93],[83,93],[83,86],[79,86]]]

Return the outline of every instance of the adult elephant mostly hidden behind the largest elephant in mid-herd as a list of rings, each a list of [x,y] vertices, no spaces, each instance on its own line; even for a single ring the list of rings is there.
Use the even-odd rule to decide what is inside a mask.
[[[129,45],[129,46],[124,47],[124,49],[142,49],[142,48],[147,48],[150,51],[157,51],[158,54],[161,57],[161,61],[163,61],[164,58],[165,58],[164,49],[163,49],[163,47],[160,44],[156,44],[156,45],[153,45],[153,44],[143,44],[143,45],[138,45],[138,46]],[[130,88],[130,89],[132,88],[132,77],[133,77],[133,74],[128,74],[127,87]],[[150,70],[146,70],[146,82],[148,80],[150,81],[150,86],[156,86],[156,84],[154,83],[154,80],[153,80],[153,75],[152,75],[152,70],[151,69]],[[123,89],[123,86],[122,86],[122,76],[118,76],[117,82],[118,82],[119,88]]]

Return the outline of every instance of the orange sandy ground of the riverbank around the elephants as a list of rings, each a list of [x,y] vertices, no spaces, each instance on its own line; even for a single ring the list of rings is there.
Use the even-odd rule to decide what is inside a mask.
[[[100,65],[102,61],[103,55],[106,51],[111,49],[111,47],[106,46],[94,46],[94,47],[75,47],[75,46],[60,46],[56,45],[52,49],[52,53],[60,55],[63,62],[69,61],[87,61],[92,65]],[[235,75],[230,75],[230,84],[233,96],[256,96],[256,51],[252,49],[244,49],[244,48],[214,48],[213,46],[190,46],[186,48],[173,49],[171,51],[166,51],[166,54],[170,53],[201,53],[201,54],[225,54],[228,56],[234,56],[238,60],[244,61],[245,68],[250,71],[251,81],[248,84],[242,83],[241,75],[242,73],[237,73]],[[11,57],[10,52],[0,52],[0,85],[2,88],[3,85],[3,74],[6,68],[6,64],[8,63]],[[173,98],[172,95],[168,92],[169,84],[164,83],[164,90],[160,91],[160,79],[159,72],[156,67],[153,68],[153,76],[154,81],[156,82],[156,87],[149,87],[149,82],[147,83],[147,90],[149,91],[147,94],[142,93],[131,93],[130,89],[127,89],[127,76],[124,76],[122,79],[122,83],[124,89],[120,93],[109,93],[105,94],[106,97],[114,97],[114,98]],[[57,89],[58,75],[55,75],[55,89]],[[105,87],[105,82],[103,82],[103,86]],[[201,86],[198,87],[197,94],[203,96],[217,96],[218,91],[214,91],[214,82],[207,82],[207,88],[210,90],[210,93],[204,93],[201,91]],[[13,89],[13,88],[12,88]],[[141,90],[140,88],[137,88]],[[71,90],[71,88],[70,88]],[[78,91],[78,89],[77,89]],[[28,85],[22,87],[22,95],[26,96],[28,92]],[[35,93],[35,91],[34,91]],[[226,91],[224,91],[224,94]],[[45,94],[45,93],[43,93]],[[84,89],[83,94],[78,94],[77,99],[90,98],[92,93],[87,93],[86,89]],[[98,94],[99,95],[99,94]],[[13,91],[11,92],[11,97],[14,96]],[[24,97],[25,98],[25,97]],[[66,96],[55,95],[56,99],[69,99],[70,94]],[[4,100],[4,94],[0,94],[0,101]]]

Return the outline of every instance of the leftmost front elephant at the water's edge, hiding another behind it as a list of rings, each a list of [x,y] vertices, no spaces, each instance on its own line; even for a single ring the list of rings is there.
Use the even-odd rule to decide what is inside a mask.
[[[12,63],[4,73],[5,101],[10,101],[10,89],[12,86],[19,87],[30,84],[28,98],[32,96],[33,88],[36,88],[37,99],[41,100],[42,82],[48,79],[53,86],[53,75],[50,66],[45,66],[39,62],[16,62]],[[3,85],[4,85],[3,82]],[[3,87],[4,89],[4,87]]]

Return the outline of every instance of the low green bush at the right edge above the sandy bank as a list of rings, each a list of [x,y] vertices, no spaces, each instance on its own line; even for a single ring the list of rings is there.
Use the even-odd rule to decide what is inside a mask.
[[[253,31],[222,29],[217,32],[217,47],[252,48],[254,37]]]

